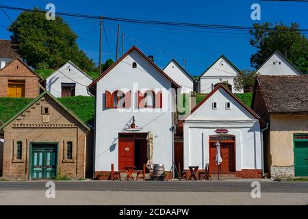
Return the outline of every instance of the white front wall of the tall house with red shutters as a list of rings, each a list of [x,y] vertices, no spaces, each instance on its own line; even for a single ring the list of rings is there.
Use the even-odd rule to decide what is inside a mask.
[[[138,68],[131,64],[137,62]],[[138,83],[139,88],[133,88]],[[166,170],[172,165],[172,114],[170,100],[166,92],[163,94],[163,110],[147,112],[148,109],[139,110],[136,107],[136,93],[132,93],[132,109],[105,109],[105,90],[114,92],[118,89],[142,90],[142,88],[171,88],[171,83],[153,66],[133,50],[118,65],[114,66],[107,75],[97,83],[97,111],[96,111],[96,149],[95,171],[110,170],[110,165],[118,170],[118,133],[129,120],[135,116],[136,126],[143,127],[140,132],[152,131],[154,140],[153,161],[155,164],[164,164]],[[124,90],[124,89],[123,89]],[[168,93],[168,92],[167,92]],[[119,112],[120,110],[120,112]],[[150,109],[151,110],[151,109]]]

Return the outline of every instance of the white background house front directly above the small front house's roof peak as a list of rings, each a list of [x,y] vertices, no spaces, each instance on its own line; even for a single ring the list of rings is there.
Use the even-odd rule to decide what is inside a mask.
[[[221,55],[199,78],[198,91],[203,94],[208,94],[214,90],[218,83],[227,81],[233,93],[242,93],[244,90],[235,90],[234,88],[234,78],[239,72],[240,70],[227,57]]]

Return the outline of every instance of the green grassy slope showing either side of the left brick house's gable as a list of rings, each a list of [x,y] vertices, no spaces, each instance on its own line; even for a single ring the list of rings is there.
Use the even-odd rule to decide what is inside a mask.
[[[94,97],[75,96],[60,98],[59,100],[68,107],[68,109],[75,112],[84,122],[88,122],[94,118]],[[5,123],[31,103],[31,101],[33,101],[33,99],[0,98],[0,120]]]

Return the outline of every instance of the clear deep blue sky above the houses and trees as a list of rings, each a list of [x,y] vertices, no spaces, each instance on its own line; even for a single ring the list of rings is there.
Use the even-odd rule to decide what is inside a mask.
[[[217,0],[217,1],[97,1],[97,0],[0,0],[0,5],[21,8],[45,8],[54,3],[56,11],[78,14],[103,15],[121,18],[138,18],[155,21],[185,23],[206,23],[219,25],[251,26],[251,5],[261,5],[261,21],[300,24],[308,29],[308,3],[277,2],[259,0]],[[20,12],[5,10],[14,20]],[[79,36],[78,44],[94,62],[99,60],[99,21],[64,17]],[[6,28],[10,20],[0,11],[0,39],[10,38]],[[114,21],[105,21],[106,37],[103,37],[103,60],[115,59],[116,26]],[[166,27],[156,28],[131,23],[120,23],[125,34],[124,50],[136,44],[146,55],[154,55],[155,63],[164,67],[175,59],[183,65],[187,60],[187,70],[191,75],[201,75],[220,55],[229,57],[238,68],[251,68],[250,57],[255,49],[249,44],[249,35],[244,32],[216,33],[213,30],[181,31]],[[109,43],[109,47],[108,44]],[[121,51],[120,51],[121,53]]]

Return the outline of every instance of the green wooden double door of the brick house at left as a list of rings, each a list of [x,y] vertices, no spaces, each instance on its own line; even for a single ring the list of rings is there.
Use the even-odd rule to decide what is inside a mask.
[[[54,179],[57,171],[56,155],[56,146],[33,146],[31,179]]]

